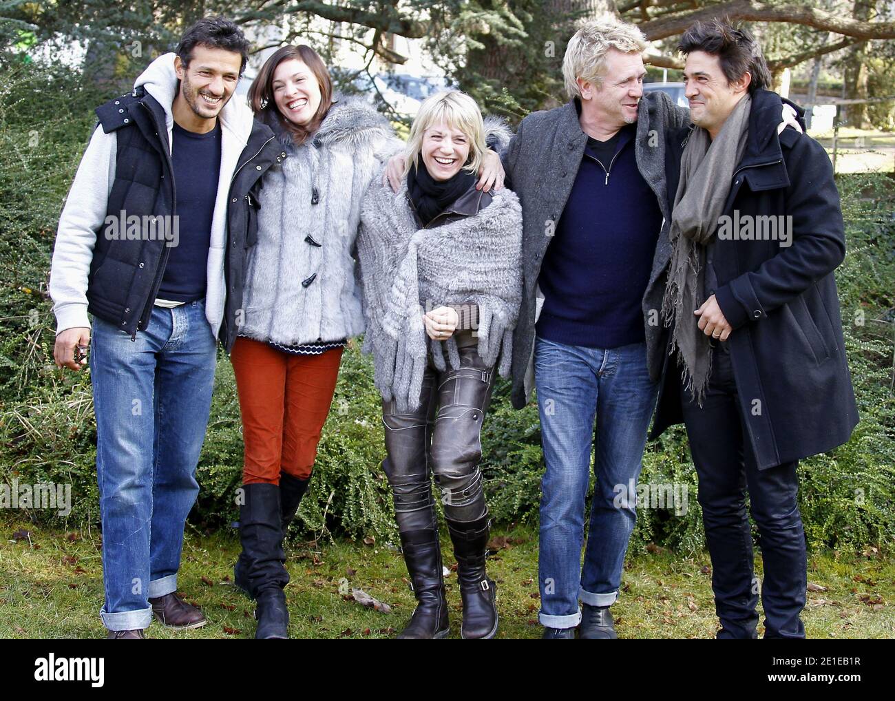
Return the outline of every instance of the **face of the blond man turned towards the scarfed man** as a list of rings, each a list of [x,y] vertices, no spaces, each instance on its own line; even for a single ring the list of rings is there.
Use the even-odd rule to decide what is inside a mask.
[[[644,75],[646,69],[640,54],[626,54],[613,47],[603,57],[601,87],[584,81],[579,87],[601,124],[620,129],[637,121],[637,106],[644,97]]]

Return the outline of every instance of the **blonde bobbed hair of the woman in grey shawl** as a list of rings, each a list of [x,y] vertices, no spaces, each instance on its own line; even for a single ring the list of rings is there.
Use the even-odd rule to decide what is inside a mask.
[[[413,119],[404,157],[405,176],[410,172],[411,166],[419,167],[423,134],[433,124],[440,123],[464,133],[469,140],[469,163],[464,169],[473,174],[479,172],[482,154],[488,148],[485,144],[482,111],[465,92],[442,90],[423,100],[420,111]]]

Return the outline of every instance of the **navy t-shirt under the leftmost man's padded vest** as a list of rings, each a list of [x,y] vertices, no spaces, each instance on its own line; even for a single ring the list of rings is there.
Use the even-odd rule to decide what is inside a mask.
[[[168,253],[157,296],[173,302],[193,302],[205,296],[208,282],[211,219],[221,168],[220,121],[204,134],[188,132],[175,123],[173,137],[178,240]]]

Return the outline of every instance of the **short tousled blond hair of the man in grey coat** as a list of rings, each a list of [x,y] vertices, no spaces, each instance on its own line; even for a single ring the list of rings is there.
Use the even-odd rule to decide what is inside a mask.
[[[601,88],[606,52],[616,48],[624,54],[643,54],[646,50],[644,33],[633,24],[612,17],[588,21],[570,38],[566,56],[562,60],[562,75],[569,98],[580,98],[581,78]]]

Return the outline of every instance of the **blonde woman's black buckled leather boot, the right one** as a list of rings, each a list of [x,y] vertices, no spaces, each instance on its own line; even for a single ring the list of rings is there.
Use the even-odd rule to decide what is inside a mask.
[[[460,637],[494,637],[498,632],[497,585],[485,574],[489,518],[487,514],[469,522],[448,518],[447,530],[454,543],[456,579],[463,600]]]

